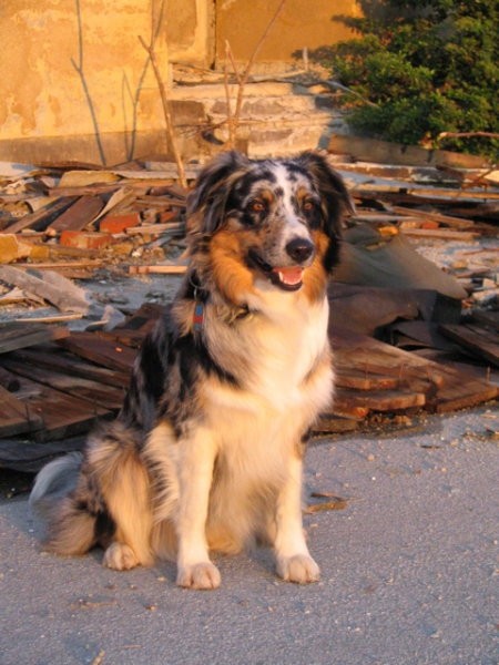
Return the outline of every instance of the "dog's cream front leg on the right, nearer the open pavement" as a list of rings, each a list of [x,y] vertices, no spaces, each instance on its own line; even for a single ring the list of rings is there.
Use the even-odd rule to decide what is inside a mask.
[[[283,580],[306,584],[316,582],[320,571],[312,559],[302,522],[302,459],[289,459],[287,480],[277,494],[274,550],[277,574]]]

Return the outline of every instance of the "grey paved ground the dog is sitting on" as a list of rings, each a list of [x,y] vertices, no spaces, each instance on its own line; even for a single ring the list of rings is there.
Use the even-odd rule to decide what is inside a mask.
[[[306,516],[323,570],[306,587],[278,581],[264,550],[220,560],[215,592],[176,589],[169,564],[58,559],[39,551],[26,497],[4,500],[0,663],[497,663],[498,426],[479,409],[312,446],[308,493],[348,501]]]

